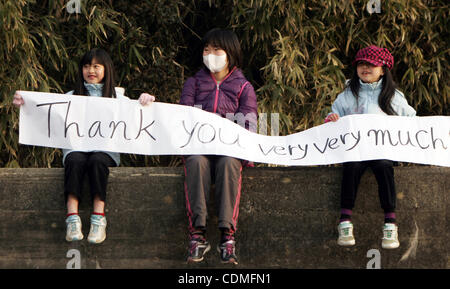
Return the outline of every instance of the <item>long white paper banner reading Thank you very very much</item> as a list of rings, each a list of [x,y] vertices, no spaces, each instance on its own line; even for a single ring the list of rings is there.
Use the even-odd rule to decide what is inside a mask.
[[[21,144],[144,155],[215,154],[288,166],[372,159],[450,166],[449,116],[351,115],[287,136],[266,136],[195,107],[21,93]]]

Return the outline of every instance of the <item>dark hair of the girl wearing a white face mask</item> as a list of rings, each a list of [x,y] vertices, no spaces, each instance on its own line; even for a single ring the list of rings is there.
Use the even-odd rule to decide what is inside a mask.
[[[241,68],[243,62],[243,55],[241,44],[236,34],[231,30],[224,30],[214,28],[206,32],[202,39],[202,54],[203,48],[208,45],[220,47],[227,53],[228,69],[233,67]]]

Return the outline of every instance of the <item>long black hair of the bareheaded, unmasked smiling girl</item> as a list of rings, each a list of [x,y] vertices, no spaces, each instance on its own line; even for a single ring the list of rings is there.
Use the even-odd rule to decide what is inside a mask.
[[[76,95],[88,95],[88,91],[84,86],[84,78],[83,78],[83,66],[85,64],[92,64],[92,61],[95,61],[105,67],[105,74],[103,77],[103,97],[113,97],[116,98],[116,90],[115,90],[115,80],[114,80],[114,64],[109,57],[109,54],[101,49],[94,48],[86,52],[80,60],[78,64],[78,78],[75,83],[74,94]]]

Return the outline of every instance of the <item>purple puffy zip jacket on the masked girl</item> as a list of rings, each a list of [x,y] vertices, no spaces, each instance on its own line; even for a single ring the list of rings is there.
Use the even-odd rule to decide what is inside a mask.
[[[225,117],[227,113],[242,113],[245,127],[256,132],[258,104],[253,86],[240,69],[234,68],[220,84],[211,72],[201,69],[186,80],[181,92],[180,104],[201,106],[203,110]]]

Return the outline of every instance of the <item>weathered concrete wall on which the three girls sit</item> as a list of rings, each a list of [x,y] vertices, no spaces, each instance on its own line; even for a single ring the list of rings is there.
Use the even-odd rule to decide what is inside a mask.
[[[401,246],[381,248],[383,212],[368,170],[354,210],[356,245],[337,246],[341,169],[244,170],[237,232],[238,268],[365,268],[370,249],[382,268],[450,268],[450,168],[397,167]],[[85,239],[67,243],[63,169],[0,169],[0,268],[66,268],[78,249],[82,268],[224,268],[211,199],[201,264],[186,265],[187,218],[182,168],[114,168],[108,188],[107,239],[86,241],[91,205],[80,207]],[[228,268],[228,266],[226,267]]]

